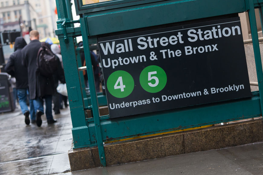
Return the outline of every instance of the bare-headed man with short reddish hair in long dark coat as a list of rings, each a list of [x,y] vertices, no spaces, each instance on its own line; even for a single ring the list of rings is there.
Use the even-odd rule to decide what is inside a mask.
[[[41,47],[39,33],[31,30],[29,33],[31,42],[22,49],[22,65],[28,69],[28,85],[30,99],[33,99],[34,109],[37,116],[37,126],[41,126],[41,115],[44,114],[43,99],[46,103],[47,123],[55,123],[52,116],[52,94],[54,93],[53,77],[45,77],[37,70],[37,53]]]

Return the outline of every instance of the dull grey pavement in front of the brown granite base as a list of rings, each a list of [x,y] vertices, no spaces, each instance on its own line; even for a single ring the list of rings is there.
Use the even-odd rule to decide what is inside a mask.
[[[262,175],[263,142],[65,175]],[[64,175],[64,174],[61,174]]]

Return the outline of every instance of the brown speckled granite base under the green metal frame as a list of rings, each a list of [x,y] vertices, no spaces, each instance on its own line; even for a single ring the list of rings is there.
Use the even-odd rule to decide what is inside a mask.
[[[116,165],[263,141],[262,119],[105,145],[106,164]],[[100,166],[98,148],[68,151],[71,171]]]

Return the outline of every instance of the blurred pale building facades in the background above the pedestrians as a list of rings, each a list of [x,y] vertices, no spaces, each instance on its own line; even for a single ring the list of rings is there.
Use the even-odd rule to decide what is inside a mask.
[[[26,33],[31,26],[40,38],[54,37],[56,30],[55,0],[0,0],[0,31]]]

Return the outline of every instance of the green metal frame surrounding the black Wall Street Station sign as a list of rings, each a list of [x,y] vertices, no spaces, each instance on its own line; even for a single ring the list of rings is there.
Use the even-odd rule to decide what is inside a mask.
[[[115,5],[114,8],[104,8],[102,11],[95,12],[86,9],[79,21],[70,21],[66,0],[56,0],[59,18],[56,34],[60,40],[67,82],[74,148],[97,146],[102,166],[106,166],[103,147],[105,141],[247,119],[261,116],[263,111],[263,72],[254,10],[255,7],[260,8],[262,18],[263,0],[169,0],[151,1],[147,4],[141,2],[136,1],[133,2],[132,6],[127,4],[125,7],[124,4],[119,4]],[[145,0],[144,2],[148,1]],[[103,5],[103,3],[101,4]],[[144,30],[145,27],[244,11],[248,11],[249,14],[259,85],[259,91],[253,92],[252,98],[117,119],[110,119],[109,116],[99,116],[99,95],[96,94],[95,90],[89,40],[107,33],[114,35],[114,32],[128,32],[127,30],[132,29]],[[75,22],[80,22],[81,27],[74,28],[70,26]],[[78,71],[81,64],[79,63],[79,49],[75,47],[74,38],[80,35],[83,37],[90,97],[87,97],[83,90],[83,78],[81,78],[82,76]],[[92,110],[93,118],[86,118],[85,110]]]

